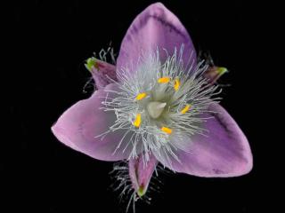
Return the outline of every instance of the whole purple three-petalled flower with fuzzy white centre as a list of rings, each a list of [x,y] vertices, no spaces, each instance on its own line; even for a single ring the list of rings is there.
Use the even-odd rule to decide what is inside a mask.
[[[53,125],[63,144],[102,161],[128,163],[134,192],[146,193],[158,163],[199,177],[252,168],[248,140],[218,100],[223,67],[204,66],[182,23],[163,4],[139,14],[116,65],[90,58],[97,90]]]

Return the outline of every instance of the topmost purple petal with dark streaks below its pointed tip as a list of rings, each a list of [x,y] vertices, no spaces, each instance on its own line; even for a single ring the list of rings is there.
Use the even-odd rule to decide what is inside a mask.
[[[184,65],[194,63],[196,52],[183,24],[163,4],[151,4],[135,18],[126,32],[118,55],[118,71],[130,65],[135,68],[142,52],[156,51],[158,47],[163,60],[167,53],[173,54],[175,48],[179,50],[182,44]]]

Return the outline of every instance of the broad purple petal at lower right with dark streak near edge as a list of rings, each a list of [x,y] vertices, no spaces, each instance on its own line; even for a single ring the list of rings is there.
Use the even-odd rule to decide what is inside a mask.
[[[252,154],[248,140],[222,106],[209,107],[214,116],[205,122],[208,136],[197,135],[189,139],[189,152],[176,151],[180,162],[173,157],[170,162],[161,152],[155,154],[159,162],[172,170],[199,177],[235,177],[247,174],[252,169]]]

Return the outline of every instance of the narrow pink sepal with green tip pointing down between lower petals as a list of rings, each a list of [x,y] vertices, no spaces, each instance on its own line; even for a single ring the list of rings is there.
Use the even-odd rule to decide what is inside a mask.
[[[128,162],[132,185],[139,196],[142,197],[144,193],[146,193],[151,181],[152,173],[157,164],[158,161],[153,154],[150,155],[150,161],[147,162],[147,164],[143,163],[142,154],[139,154],[138,158],[133,158]]]

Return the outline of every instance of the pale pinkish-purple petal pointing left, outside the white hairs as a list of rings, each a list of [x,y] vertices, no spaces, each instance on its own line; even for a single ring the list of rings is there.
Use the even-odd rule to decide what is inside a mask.
[[[110,84],[106,90],[116,90],[116,87]],[[126,130],[111,131],[104,138],[96,138],[109,130],[117,119],[113,112],[101,109],[102,100],[107,93],[103,90],[95,91],[91,98],[78,101],[61,115],[52,131],[63,144],[81,153],[102,161],[118,161],[126,159],[131,152],[132,147],[126,145],[129,138],[126,135],[124,142],[114,153]],[[110,93],[108,95],[110,97]],[[125,147],[126,150],[123,151]]]

